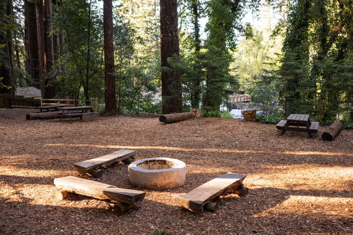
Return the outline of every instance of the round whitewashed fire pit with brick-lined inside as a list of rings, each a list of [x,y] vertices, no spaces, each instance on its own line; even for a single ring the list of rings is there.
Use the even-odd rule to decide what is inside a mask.
[[[152,189],[175,188],[185,184],[186,165],[168,157],[138,160],[128,166],[130,182]]]

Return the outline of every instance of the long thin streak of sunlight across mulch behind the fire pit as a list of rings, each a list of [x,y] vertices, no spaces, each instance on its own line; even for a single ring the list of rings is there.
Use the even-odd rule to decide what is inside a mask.
[[[348,155],[353,153],[340,152],[318,152],[318,151],[261,151],[261,150],[237,150],[237,149],[214,149],[214,148],[183,148],[183,147],[167,147],[167,146],[120,146],[120,145],[95,145],[95,144],[47,144],[47,146],[72,146],[72,147],[94,147],[94,148],[123,148],[123,149],[160,149],[175,151],[210,151],[210,152],[226,152],[226,153],[266,153],[266,154],[293,154],[293,155]]]

